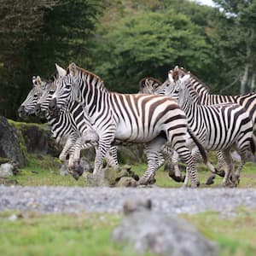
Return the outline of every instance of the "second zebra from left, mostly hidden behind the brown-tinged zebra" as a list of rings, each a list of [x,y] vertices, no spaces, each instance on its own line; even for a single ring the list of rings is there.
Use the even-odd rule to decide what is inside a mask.
[[[60,69],[61,67],[57,67]],[[73,157],[76,152],[79,154],[80,158],[80,150],[97,147],[97,143],[83,143],[83,134],[84,132],[88,132],[89,124],[84,121],[84,113],[83,109],[80,107],[78,102],[72,102],[67,106],[64,112],[60,113],[60,115],[56,117],[52,117],[48,112],[49,101],[51,99],[51,95],[55,90],[55,79],[50,79],[48,84],[45,87],[44,93],[38,101],[36,106],[36,114],[44,113],[45,118],[47,119],[53,137],[55,138],[57,143],[60,143],[61,140],[67,138],[67,141],[64,145],[64,148],[60,154],[60,160],[65,162],[67,159],[67,154],[69,154],[69,163],[68,163],[68,172],[70,168],[73,166]],[[79,151],[76,149],[79,148]],[[118,169],[119,162],[117,156],[117,148],[111,147],[109,149],[108,154],[106,154],[107,166]],[[79,176],[83,174],[83,169],[76,166],[77,172],[70,172],[75,179],[79,179]]]

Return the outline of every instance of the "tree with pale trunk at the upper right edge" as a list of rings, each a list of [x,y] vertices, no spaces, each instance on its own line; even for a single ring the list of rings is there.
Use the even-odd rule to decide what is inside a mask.
[[[215,0],[224,9],[218,23],[218,42],[233,83],[240,93],[254,89],[256,77],[256,1]],[[226,68],[227,69],[227,68]]]

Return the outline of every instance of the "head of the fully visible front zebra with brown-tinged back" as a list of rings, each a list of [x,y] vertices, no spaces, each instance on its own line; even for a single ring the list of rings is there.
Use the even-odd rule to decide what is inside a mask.
[[[53,116],[58,115],[60,110],[67,108],[67,104],[72,101],[72,89],[77,82],[77,67],[74,63],[69,65],[67,71],[57,65],[56,68],[59,78],[55,81],[55,93],[49,101],[49,113]]]

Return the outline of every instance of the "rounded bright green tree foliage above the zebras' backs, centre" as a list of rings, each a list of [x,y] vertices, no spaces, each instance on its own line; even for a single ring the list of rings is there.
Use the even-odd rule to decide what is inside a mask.
[[[200,26],[173,10],[119,20],[99,43],[102,65],[98,63],[96,73],[110,81],[108,88],[125,92],[136,92],[138,81],[148,75],[166,79],[175,65],[198,73],[211,64],[212,55],[201,33]]]

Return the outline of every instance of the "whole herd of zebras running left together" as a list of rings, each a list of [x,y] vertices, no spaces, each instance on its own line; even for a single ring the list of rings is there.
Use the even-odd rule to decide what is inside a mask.
[[[175,67],[165,83],[145,78],[137,94],[110,92],[94,73],[71,63],[56,65],[49,80],[32,78],[32,90],[19,108],[20,116],[35,113],[47,119],[68,172],[78,179],[80,151],[96,148],[93,177],[101,183],[102,161],[119,167],[118,143],[143,143],[148,160],[138,184],[147,185],[155,172],[171,159],[175,176],[180,158],[186,164],[184,186],[199,185],[195,166],[200,157],[212,172],[224,176],[224,186],[236,186],[248,153],[255,151],[256,94],[213,96],[207,86],[183,68]],[[241,156],[234,170],[231,148]],[[206,150],[218,151],[218,166]],[[224,166],[224,175],[219,171]]]

